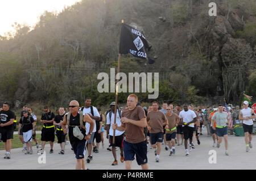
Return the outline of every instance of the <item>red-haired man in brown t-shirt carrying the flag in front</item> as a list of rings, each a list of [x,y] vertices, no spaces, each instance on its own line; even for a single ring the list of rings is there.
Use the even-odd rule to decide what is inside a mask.
[[[128,109],[122,112],[121,126],[112,124],[113,129],[125,131],[126,137],[123,141],[123,153],[125,156],[125,169],[131,169],[131,162],[136,154],[136,161],[143,170],[148,169],[147,165],[147,143],[143,132],[147,125],[145,111],[141,106],[136,106],[138,97],[130,94],[127,98]]]

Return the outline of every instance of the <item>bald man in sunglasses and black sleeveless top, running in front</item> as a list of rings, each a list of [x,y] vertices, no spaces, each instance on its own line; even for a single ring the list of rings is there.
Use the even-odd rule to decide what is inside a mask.
[[[79,102],[77,100],[72,100],[69,103],[69,112],[65,114],[63,118],[63,122],[61,124],[61,128],[64,133],[68,133],[69,141],[71,143],[72,149],[76,154],[76,170],[86,170],[84,156],[85,156],[85,145],[86,141],[90,140],[90,136],[92,135],[92,131],[94,128],[94,122],[90,118],[88,114],[80,116],[79,112]],[[80,119],[82,119],[82,125],[80,125]],[[69,120],[69,121],[68,121]],[[66,127],[69,122],[68,128]],[[86,135],[85,123],[89,123],[89,133]],[[80,128],[81,133],[84,136],[84,139],[80,140],[79,138],[73,135],[73,128],[78,126]]]

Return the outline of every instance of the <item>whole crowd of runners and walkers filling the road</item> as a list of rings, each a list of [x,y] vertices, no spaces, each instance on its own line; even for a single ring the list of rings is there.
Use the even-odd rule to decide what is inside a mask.
[[[220,148],[222,137],[224,137],[225,155],[228,152],[228,127],[229,121],[237,124],[240,121],[245,133],[246,151],[253,147],[253,120],[254,111],[249,107],[247,101],[243,107],[239,106],[230,109],[231,119],[224,111],[224,105],[214,107],[194,107],[192,104],[173,104],[152,102],[152,106],[142,107],[138,97],[131,94],[127,97],[125,108],[118,108],[115,102],[109,104],[109,110],[101,113],[100,108],[92,106],[92,100],[86,98],[84,106],[72,100],[69,103],[69,111],[60,107],[53,113],[48,106],[44,106],[44,113],[40,119],[42,123],[41,149],[38,153],[43,154],[46,142],[50,144],[49,153],[54,153],[53,144],[55,135],[57,143],[60,144],[59,154],[65,154],[65,145],[70,142],[72,150],[77,159],[76,169],[86,169],[85,161],[93,161],[92,152],[99,153],[100,143],[104,145],[104,131],[109,145],[106,146],[112,151],[113,166],[118,165],[117,150],[120,150],[120,161],[125,162],[125,168],[131,169],[131,163],[135,159],[142,169],[148,169],[147,152],[155,149],[155,161],[160,161],[162,145],[165,150],[170,150],[170,156],[176,154],[175,146],[184,145],[185,155],[188,156],[195,143],[200,145],[202,131],[207,129],[207,136],[212,136],[213,147]],[[115,115],[115,106],[117,107]],[[16,116],[10,110],[10,104],[5,102],[0,110],[1,138],[5,144],[5,159],[11,158],[11,139],[13,139],[14,128],[16,127]],[[23,107],[18,121],[18,134],[23,144],[24,154],[32,154],[32,140],[39,149],[36,139],[37,118],[32,113],[32,108]],[[115,121],[115,123],[114,123]],[[239,122],[239,123],[240,123]],[[69,140],[69,141],[68,141]],[[95,143],[96,141],[96,143]],[[88,157],[85,159],[85,154]]]

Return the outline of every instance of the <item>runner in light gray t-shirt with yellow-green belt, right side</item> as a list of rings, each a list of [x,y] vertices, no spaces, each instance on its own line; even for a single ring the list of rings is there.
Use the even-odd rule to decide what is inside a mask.
[[[216,123],[216,128],[212,127],[214,130],[216,129],[218,142],[217,142],[217,148],[220,148],[220,144],[222,141],[222,137],[224,137],[225,141],[225,155],[228,154],[228,126],[229,125],[229,115],[228,113],[223,111],[223,105],[218,105],[218,112],[214,113],[212,117],[212,125]]]

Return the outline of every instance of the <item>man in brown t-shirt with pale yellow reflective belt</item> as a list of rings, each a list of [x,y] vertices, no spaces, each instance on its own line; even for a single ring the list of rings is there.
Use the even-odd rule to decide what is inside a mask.
[[[167,107],[166,117],[168,119],[168,126],[166,127],[166,141],[170,147],[170,155],[175,154],[175,137],[177,133],[177,125],[180,122],[179,116],[172,113],[172,106]]]

